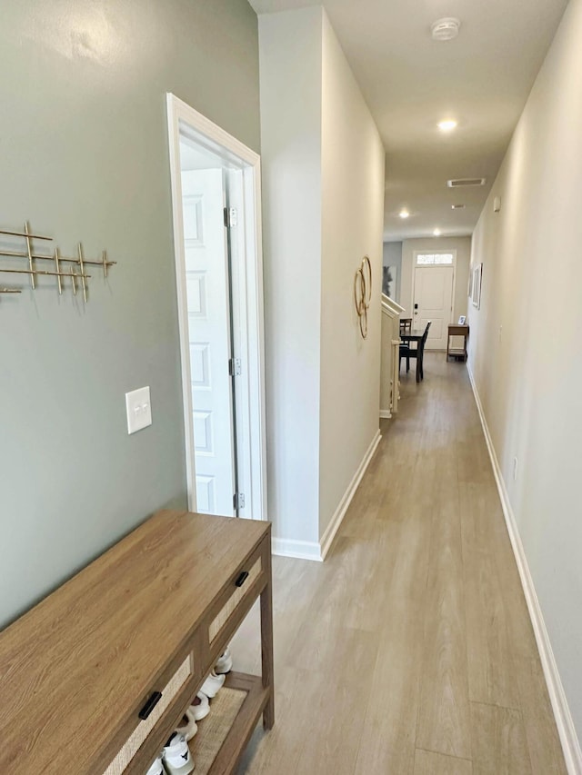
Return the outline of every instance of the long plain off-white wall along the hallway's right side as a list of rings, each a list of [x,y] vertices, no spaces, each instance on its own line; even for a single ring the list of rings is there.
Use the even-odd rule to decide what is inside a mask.
[[[469,364],[582,735],[582,0],[571,0],[473,239]],[[493,197],[502,208],[494,214]],[[518,459],[517,481],[513,459]]]

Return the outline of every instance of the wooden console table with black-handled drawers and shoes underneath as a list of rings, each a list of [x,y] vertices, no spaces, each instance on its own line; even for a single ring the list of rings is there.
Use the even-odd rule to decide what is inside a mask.
[[[231,673],[191,741],[195,775],[235,770],[261,713],[274,723],[270,524],[187,512],[159,512],[0,633],[0,770],[144,775],[259,595],[262,677]]]

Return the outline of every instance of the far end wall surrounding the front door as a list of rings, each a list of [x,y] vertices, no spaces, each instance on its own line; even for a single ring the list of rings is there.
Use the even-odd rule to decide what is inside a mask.
[[[412,298],[414,283],[414,253],[415,251],[433,250],[457,251],[455,304],[453,307],[453,322],[459,315],[467,314],[467,283],[469,279],[469,262],[471,258],[470,237],[427,237],[426,239],[404,240],[402,243],[402,283],[400,286],[400,304],[406,309],[403,317],[412,317],[414,302]]]

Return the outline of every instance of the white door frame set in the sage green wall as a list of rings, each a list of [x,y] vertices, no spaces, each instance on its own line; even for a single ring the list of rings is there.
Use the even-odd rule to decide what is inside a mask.
[[[242,405],[236,414],[244,426],[251,469],[251,492],[245,492],[245,512],[255,520],[266,520],[266,412],[265,412],[265,331],[263,313],[263,249],[261,241],[261,164],[260,156],[231,134],[198,113],[174,94],[166,94],[172,210],[174,220],[174,254],[176,292],[182,362],[182,395],[186,434],[186,480],[188,509],[196,512],[196,462],[192,391],[189,380],[190,351],[186,298],[186,254],[182,213],[182,180],[180,170],[180,134],[196,135],[196,141],[221,155],[243,174],[244,207],[239,218],[245,225],[244,270],[236,292],[242,294],[240,324],[244,369],[240,378]],[[234,289],[235,290],[235,289]],[[238,391],[237,391],[238,395]]]

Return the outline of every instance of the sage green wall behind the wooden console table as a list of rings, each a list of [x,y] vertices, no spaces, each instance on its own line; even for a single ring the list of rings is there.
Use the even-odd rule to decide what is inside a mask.
[[[86,307],[0,275],[23,288],[0,296],[0,624],[186,504],[168,91],[259,150],[246,0],[2,4],[0,228],[119,263]],[[128,436],[124,394],[146,384],[154,423]]]

